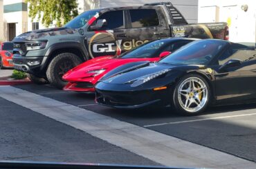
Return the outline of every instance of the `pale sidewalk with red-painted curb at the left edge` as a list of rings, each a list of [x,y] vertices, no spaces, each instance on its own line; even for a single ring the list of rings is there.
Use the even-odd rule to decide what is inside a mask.
[[[12,86],[12,85],[20,85],[20,84],[28,84],[32,83],[28,78],[26,79],[12,79],[12,69],[3,69],[0,70],[0,86]]]

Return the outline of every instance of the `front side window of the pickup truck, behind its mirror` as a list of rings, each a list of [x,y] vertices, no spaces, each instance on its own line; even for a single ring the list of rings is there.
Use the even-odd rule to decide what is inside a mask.
[[[111,11],[111,12],[105,12],[100,17],[98,17],[98,19],[106,19],[106,21],[107,21],[107,25],[103,26],[99,30],[113,30],[113,29],[125,28],[125,26],[124,26],[124,14],[123,14],[122,10],[115,10],[115,11]],[[93,24],[95,24],[96,21],[94,21]]]

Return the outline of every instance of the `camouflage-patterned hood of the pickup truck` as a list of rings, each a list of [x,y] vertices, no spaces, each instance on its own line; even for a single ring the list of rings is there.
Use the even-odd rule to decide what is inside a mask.
[[[25,32],[15,37],[14,41],[19,41],[19,39],[26,39],[28,41],[45,39],[47,37],[53,37],[57,35],[66,35],[66,34],[74,34],[77,30],[71,28],[48,28],[44,30],[33,30],[30,32]]]

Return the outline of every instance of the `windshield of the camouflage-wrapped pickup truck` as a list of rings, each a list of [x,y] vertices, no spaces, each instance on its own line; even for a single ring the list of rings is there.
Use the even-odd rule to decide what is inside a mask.
[[[73,29],[81,28],[98,12],[100,12],[100,10],[89,10],[83,12],[82,14],[78,15],[77,17],[66,23],[64,27]]]

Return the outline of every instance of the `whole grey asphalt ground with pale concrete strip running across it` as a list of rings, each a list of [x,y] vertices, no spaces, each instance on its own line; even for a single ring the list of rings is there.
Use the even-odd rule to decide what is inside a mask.
[[[0,86],[0,159],[255,168],[254,103],[181,117],[167,108],[116,110],[93,94]]]

